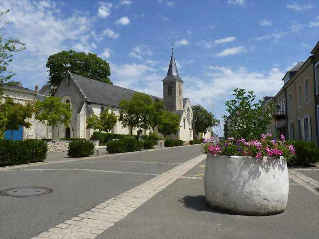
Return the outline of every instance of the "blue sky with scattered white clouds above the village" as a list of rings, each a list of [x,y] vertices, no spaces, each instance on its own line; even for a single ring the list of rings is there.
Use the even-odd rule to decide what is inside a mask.
[[[1,0],[7,9],[0,35],[26,44],[8,67],[24,87],[41,88],[48,57],[72,49],[105,59],[114,85],[162,97],[173,46],[184,98],[221,122],[234,88],[275,95],[319,40],[318,0]]]

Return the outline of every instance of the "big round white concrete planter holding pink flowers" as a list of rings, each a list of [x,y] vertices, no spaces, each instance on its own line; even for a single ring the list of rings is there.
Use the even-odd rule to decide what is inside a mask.
[[[242,215],[271,215],[287,206],[286,159],[207,155],[205,196],[214,209]]]

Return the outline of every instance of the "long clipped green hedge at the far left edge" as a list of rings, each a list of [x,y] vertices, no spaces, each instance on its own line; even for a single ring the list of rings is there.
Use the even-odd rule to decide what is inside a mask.
[[[41,140],[2,139],[0,140],[0,166],[43,162],[47,158],[47,152],[48,145]]]

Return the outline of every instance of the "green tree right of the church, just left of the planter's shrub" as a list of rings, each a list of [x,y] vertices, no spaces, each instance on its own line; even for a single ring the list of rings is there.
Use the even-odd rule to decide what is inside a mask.
[[[219,120],[214,117],[211,112],[208,112],[203,106],[192,106],[193,109],[193,129],[194,136],[199,132],[206,132],[207,128],[219,125]]]

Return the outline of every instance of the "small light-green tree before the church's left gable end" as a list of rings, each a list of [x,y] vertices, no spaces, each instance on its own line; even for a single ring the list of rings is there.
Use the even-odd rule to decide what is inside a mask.
[[[38,111],[35,119],[52,126],[52,138],[54,126],[57,126],[58,123],[68,126],[68,123],[71,122],[72,109],[70,109],[70,103],[63,104],[60,100],[59,97],[45,96],[43,101],[35,102],[35,108]]]

